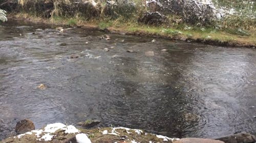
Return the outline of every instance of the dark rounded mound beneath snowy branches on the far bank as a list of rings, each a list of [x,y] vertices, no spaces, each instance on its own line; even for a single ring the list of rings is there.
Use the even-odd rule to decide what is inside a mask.
[[[138,21],[143,22],[144,24],[162,24],[166,20],[166,16],[160,14],[159,12],[146,12],[143,17]]]

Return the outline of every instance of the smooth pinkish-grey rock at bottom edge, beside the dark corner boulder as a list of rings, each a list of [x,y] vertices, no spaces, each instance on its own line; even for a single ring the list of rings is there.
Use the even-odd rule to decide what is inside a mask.
[[[209,138],[181,138],[180,140],[174,141],[173,143],[225,143],[220,140],[209,139]]]

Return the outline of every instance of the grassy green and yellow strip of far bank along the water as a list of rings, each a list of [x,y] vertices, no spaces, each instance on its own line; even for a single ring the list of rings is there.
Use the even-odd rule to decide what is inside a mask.
[[[120,22],[114,20],[104,21],[103,19],[81,20],[79,18],[62,18],[51,17],[42,18],[27,13],[10,13],[9,19],[25,20],[34,23],[45,23],[62,26],[79,26],[98,28],[99,30],[120,33],[127,35],[151,36],[158,38],[166,38],[170,40],[180,40],[186,42],[198,42],[220,46],[256,46],[256,31],[252,30],[245,35],[230,34],[225,31],[217,31],[211,28],[188,27],[187,30],[165,27],[145,25],[135,22]]]

